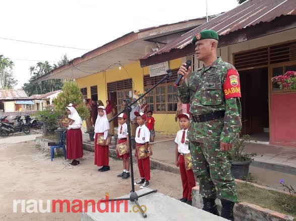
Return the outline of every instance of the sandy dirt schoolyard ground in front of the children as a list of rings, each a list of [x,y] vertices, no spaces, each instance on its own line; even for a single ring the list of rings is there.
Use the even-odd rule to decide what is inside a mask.
[[[21,213],[13,212],[14,199],[99,199],[126,195],[131,190],[131,179],[116,177],[122,172],[121,161],[110,159],[110,171],[98,172],[94,165],[94,153],[84,151],[80,165],[68,166],[69,162],[58,157],[50,161],[49,153],[37,150],[34,142],[2,144],[0,146],[0,220],[80,220],[80,213]],[[134,164],[135,180],[139,179]],[[149,188],[174,198],[181,198],[182,184],[179,175],[151,170]],[[135,187],[136,190],[139,186]],[[144,196],[145,197],[145,196]],[[140,200],[139,200],[140,202]],[[45,203],[43,203],[46,205]],[[66,206],[64,206],[66,210]]]

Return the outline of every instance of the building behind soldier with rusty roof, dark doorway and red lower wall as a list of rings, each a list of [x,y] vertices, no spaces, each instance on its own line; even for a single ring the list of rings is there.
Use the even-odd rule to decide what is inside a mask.
[[[242,134],[259,141],[296,146],[296,90],[282,90],[271,78],[296,71],[296,2],[249,0],[193,29],[157,52],[141,67],[175,58],[195,59],[192,38],[205,29],[219,35],[218,56],[238,69],[242,91]]]

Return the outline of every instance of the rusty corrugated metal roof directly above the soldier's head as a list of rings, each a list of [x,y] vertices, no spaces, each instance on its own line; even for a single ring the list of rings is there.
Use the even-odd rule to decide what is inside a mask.
[[[282,15],[296,15],[295,0],[249,0],[242,5],[223,13],[211,21],[185,33],[158,51],[145,55],[142,59],[150,56],[169,52],[172,49],[183,49],[189,45],[196,35],[202,30],[211,29],[218,33],[219,36],[227,35],[240,29],[254,26],[261,22],[270,22]]]

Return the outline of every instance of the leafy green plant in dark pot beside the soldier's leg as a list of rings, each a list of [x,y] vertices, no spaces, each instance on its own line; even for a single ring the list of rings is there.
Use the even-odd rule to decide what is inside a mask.
[[[257,153],[246,153],[246,145],[251,143],[257,143],[257,141],[252,141],[250,135],[244,135],[240,139],[236,139],[233,144],[234,155],[233,161],[250,161],[254,160],[254,156],[258,155]]]

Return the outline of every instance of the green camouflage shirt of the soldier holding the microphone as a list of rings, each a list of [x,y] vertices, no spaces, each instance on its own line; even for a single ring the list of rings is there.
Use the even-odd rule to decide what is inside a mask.
[[[235,79],[229,78],[229,71],[236,73]],[[225,81],[231,85],[225,89]],[[230,85],[230,84],[229,84]],[[220,57],[208,67],[202,67],[192,73],[188,85],[186,82],[178,87],[183,103],[190,103],[191,115],[206,115],[225,111],[222,119],[195,123],[190,120],[188,139],[200,143],[233,143],[242,128],[240,79],[233,65],[222,61]],[[231,88],[232,87],[232,88]],[[237,93],[239,92],[239,93]],[[231,96],[232,94],[232,96]],[[238,95],[239,96],[236,96]],[[227,96],[227,99],[225,99]],[[230,97],[229,97],[230,96]]]

